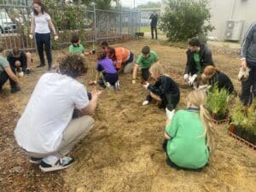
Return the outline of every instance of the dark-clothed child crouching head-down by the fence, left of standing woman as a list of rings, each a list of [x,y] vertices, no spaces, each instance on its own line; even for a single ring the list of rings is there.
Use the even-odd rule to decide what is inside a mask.
[[[17,71],[20,76],[23,76],[24,73],[30,74],[32,64],[31,53],[24,53],[23,51],[20,51],[19,48],[14,48],[7,55],[7,60],[14,73]]]

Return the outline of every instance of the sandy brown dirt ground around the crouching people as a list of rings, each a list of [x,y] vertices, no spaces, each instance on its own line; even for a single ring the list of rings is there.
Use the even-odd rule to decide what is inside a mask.
[[[169,47],[158,41],[141,39],[125,44],[135,55],[149,45],[160,55],[166,73],[180,85],[185,107],[190,91],[183,83],[185,49]],[[239,58],[236,49],[212,47],[217,66],[236,80]],[[54,56],[59,55],[55,52]],[[34,61],[36,66],[37,59]],[[88,56],[90,70],[85,85],[94,77],[95,55]],[[0,191],[77,191],[77,192],[158,192],[158,191],[255,191],[256,153],[227,133],[227,125],[215,126],[217,142],[210,165],[202,172],[177,170],[166,166],[162,150],[166,116],[154,103],[142,106],[147,90],[131,84],[131,74],[120,76],[121,90],[104,90],[94,118],[96,125],[71,155],[75,163],[61,172],[43,173],[28,162],[15,143],[13,131],[26,107],[32,90],[46,69],[36,69],[21,81],[22,91],[9,94],[6,84],[0,94]],[[92,90],[95,87],[87,87]]]

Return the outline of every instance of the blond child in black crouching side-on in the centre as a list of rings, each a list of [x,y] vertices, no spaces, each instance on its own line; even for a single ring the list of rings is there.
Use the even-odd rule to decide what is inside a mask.
[[[177,83],[163,72],[163,67],[160,66],[159,62],[154,63],[149,69],[151,77],[155,79],[156,82],[154,85],[148,84],[148,82],[143,83],[143,87],[150,90],[150,94],[143,102],[143,105],[147,105],[153,98],[160,102],[159,108],[166,108],[167,119],[172,119],[180,99],[180,92]]]

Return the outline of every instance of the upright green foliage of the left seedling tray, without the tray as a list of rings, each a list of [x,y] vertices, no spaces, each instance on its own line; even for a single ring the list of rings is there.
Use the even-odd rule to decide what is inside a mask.
[[[215,84],[207,95],[207,108],[211,113],[224,115],[228,113],[230,95],[225,89],[218,89]]]

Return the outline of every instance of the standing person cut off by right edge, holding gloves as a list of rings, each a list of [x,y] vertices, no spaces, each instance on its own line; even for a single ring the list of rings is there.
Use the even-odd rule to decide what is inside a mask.
[[[256,96],[256,21],[248,28],[241,45],[241,68],[249,69],[248,78],[241,82],[241,102],[244,105],[251,104],[249,101],[252,95]]]

